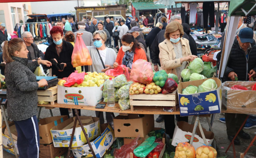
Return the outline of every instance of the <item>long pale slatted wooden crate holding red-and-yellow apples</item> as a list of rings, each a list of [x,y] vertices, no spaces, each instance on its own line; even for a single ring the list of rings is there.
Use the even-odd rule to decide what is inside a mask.
[[[131,111],[133,111],[133,106],[168,106],[175,108],[175,94],[177,90],[170,94],[138,94],[130,95],[130,106]]]

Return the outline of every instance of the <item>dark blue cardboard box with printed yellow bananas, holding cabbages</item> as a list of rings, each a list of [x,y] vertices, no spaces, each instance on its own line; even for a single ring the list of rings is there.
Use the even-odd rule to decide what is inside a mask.
[[[216,77],[211,79],[213,79],[216,82],[218,86],[217,89],[202,93],[188,95],[182,94],[182,89],[186,88],[187,86],[193,85],[198,87],[204,81],[209,79],[210,78],[197,81],[182,82],[178,85],[177,92],[179,96],[181,116],[205,115],[221,112],[222,87],[221,80],[219,80]]]

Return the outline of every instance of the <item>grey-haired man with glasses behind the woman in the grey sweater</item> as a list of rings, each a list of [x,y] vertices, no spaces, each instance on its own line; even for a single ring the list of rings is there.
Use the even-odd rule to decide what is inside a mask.
[[[37,47],[37,45],[33,41],[33,36],[30,32],[25,31],[22,34],[22,39],[24,40],[27,49],[28,49],[28,62],[33,62],[35,60],[43,60],[44,59],[44,53],[40,51]],[[31,70],[33,71],[33,70]]]

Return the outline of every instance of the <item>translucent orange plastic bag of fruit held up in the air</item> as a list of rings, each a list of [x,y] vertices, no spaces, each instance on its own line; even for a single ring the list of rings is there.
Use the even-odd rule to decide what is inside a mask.
[[[93,64],[93,60],[91,60],[91,56],[87,47],[84,44],[82,36],[76,37],[75,46],[71,56],[71,63],[74,68],[77,66]]]

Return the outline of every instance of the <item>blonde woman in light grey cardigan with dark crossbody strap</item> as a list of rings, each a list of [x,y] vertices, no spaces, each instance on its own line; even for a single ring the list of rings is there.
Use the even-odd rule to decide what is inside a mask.
[[[106,70],[113,69],[113,64],[116,60],[116,52],[112,48],[105,46],[107,41],[106,33],[101,31],[95,31],[93,34],[94,46],[88,46],[88,50],[93,60],[93,64],[89,66],[90,72],[105,72]],[[100,59],[101,58],[101,59]],[[103,112],[95,111],[96,117],[100,118],[100,124],[104,123]],[[106,121],[113,122],[113,112],[106,112]]]

